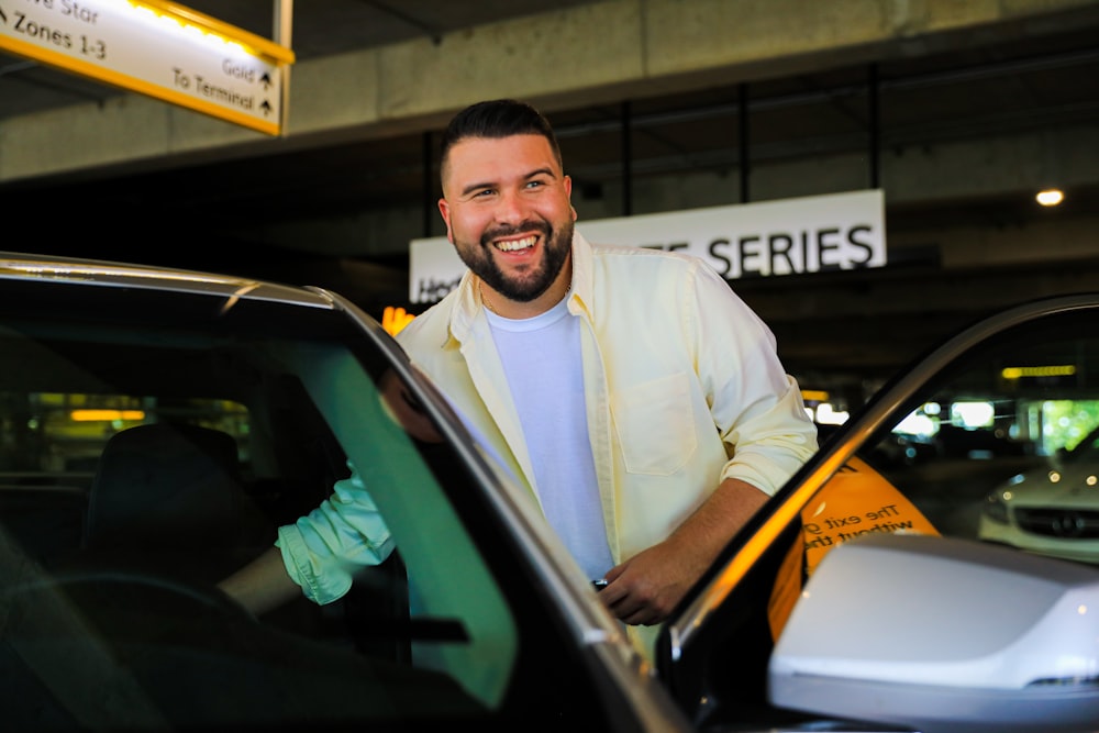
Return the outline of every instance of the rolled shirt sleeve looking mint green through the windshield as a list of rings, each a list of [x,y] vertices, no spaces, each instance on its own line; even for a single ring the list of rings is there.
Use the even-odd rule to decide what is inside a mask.
[[[348,478],[335,482],[332,496],[293,524],[278,529],[275,546],[286,571],[317,603],[342,598],[362,567],[378,565],[395,543],[358,470],[348,462]]]

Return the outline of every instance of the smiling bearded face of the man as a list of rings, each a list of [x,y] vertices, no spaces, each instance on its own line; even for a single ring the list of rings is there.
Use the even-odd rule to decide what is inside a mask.
[[[444,162],[439,211],[466,266],[503,297],[530,302],[568,262],[571,192],[545,137],[467,137]]]

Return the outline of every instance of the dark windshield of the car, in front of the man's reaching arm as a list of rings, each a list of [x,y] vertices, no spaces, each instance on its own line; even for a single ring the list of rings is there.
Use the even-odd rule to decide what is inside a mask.
[[[436,400],[445,414],[380,329],[315,303],[2,286],[0,695],[13,730],[613,714],[493,519],[460,423],[440,430],[417,409]],[[354,509],[362,493],[335,491],[353,475],[395,549],[348,559],[345,593],[257,619],[215,590],[280,526]]]

